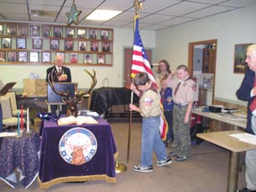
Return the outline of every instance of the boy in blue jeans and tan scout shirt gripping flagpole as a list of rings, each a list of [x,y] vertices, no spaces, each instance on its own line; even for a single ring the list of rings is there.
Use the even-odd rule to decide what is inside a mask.
[[[172,159],[167,156],[164,142],[159,132],[160,97],[156,88],[148,78],[147,73],[137,74],[131,90],[140,98],[140,108],[130,104],[130,109],[142,116],[141,156],[140,164],[133,166],[135,172],[153,172],[152,153],[156,152],[157,166],[171,164]]]

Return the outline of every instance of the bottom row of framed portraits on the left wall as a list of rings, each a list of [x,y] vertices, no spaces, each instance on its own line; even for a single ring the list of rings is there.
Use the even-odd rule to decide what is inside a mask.
[[[29,54],[29,55],[28,55]],[[39,61],[39,54],[40,52],[0,52],[0,61],[2,62],[40,62]],[[62,58],[68,60],[69,63],[78,63],[78,53],[77,52],[70,52],[70,53],[64,53],[64,52],[56,52],[54,53],[56,55],[61,55]],[[80,53],[79,53],[80,54]],[[96,55],[96,58],[95,58]],[[51,52],[42,52],[42,62],[44,63],[51,63],[52,57]],[[104,64],[106,59],[105,54],[88,54],[83,53],[83,61],[84,64],[92,64],[92,63],[98,63],[98,64]]]

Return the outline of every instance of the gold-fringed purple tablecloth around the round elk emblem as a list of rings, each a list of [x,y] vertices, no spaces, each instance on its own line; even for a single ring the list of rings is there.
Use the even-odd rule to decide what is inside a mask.
[[[41,145],[41,157],[38,183],[40,188],[70,181],[107,180],[116,182],[115,158],[116,143],[111,127],[104,119],[100,124],[69,124],[58,126],[56,122],[44,120]],[[65,132],[75,127],[84,127],[91,131],[97,140],[97,151],[92,160],[85,164],[69,164],[59,151],[60,140]]]

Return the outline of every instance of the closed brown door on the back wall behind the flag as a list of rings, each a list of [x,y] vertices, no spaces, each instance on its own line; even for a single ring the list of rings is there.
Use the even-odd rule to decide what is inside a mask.
[[[152,50],[145,50],[148,56],[149,63],[152,63]],[[132,69],[132,49],[124,49],[124,87],[129,87],[132,78],[131,78],[131,69]]]

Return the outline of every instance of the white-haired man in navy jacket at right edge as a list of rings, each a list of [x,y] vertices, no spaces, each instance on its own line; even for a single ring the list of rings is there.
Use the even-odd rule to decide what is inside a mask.
[[[246,131],[256,133],[256,44],[248,46],[246,60],[248,69],[245,72],[244,80],[236,92],[239,100],[248,101]],[[245,155],[245,180],[246,188],[239,192],[256,191],[256,150],[247,151]]]

